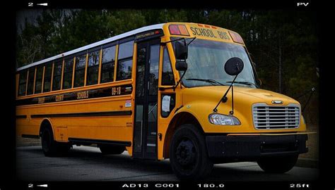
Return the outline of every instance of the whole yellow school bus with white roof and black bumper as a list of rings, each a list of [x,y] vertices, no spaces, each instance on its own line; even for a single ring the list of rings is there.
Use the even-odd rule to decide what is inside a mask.
[[[141,27],[17,69],[16,131],[45,156],[170,158],[180,179],[215,163],[287,172],[306,153],[300,103],[260,89],[237,32],[198,23]]]

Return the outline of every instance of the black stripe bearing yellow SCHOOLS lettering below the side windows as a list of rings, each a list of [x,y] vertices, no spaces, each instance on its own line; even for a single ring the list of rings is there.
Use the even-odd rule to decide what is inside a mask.
[[[122,96],[131,94],[132,91],[133,87],[131,86],[131,84],[125,84],[116,87],[105,87],[100,89],[73,91],[69,93],[54,94],[51,96],[40,96],[30,99],[21,99],[16,101],[16,106],[74,101],[81,99],[96,99],[109,96]]]

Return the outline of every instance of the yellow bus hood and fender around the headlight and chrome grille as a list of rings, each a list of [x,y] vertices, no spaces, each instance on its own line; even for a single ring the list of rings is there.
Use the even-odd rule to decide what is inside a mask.
[[[227,94],[228,101],[221,102],[217,108],[218,114],[230,115],[233,110],[235,118],[240,120],[241,125],[231,127],[230,125],[213,125],[208,121],[209,115],[221,100],[223,94],[229,86],[211,86],[211,87],[193,87],[182,89],[182,108],[177,111],[188,112],[194,115],[203,127],[204,132],[209,133],[238,133],[238,132],[269,132],[266,129],[255,129],[253,122],[252,108],[255,103],[266,103],[269,106],[290,106],[295,103],[295,106],[300,107],[300,103],[294,99],[278,94],[274,91],[264,89],[254,89],[248,87],[233,87],[234,88],[234,109],[232,108],[232,93],[231,89]],[[285,129],[286,132],[305,131],[305,124],[300,117],[300,127],[298,129]],[[283,132],[282,129],[271,129],[271,132]]]

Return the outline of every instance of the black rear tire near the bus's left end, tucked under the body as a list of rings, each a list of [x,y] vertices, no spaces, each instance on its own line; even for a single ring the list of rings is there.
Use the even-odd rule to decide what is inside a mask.
[[[45,156],[64,156],[69,152],[71,145],[54,141],[52,129],[45,127],[41,132],[42,151]]]

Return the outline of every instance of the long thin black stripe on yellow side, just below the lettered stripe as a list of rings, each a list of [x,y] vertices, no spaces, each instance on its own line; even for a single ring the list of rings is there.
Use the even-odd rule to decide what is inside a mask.
[[[107,111],[107,112],[88,112],[88,113],[55,113],[31,115],[31,118],[71,118],[71,117],[93,117],[93,116],[115,116],[131,115],[131,110]]]

